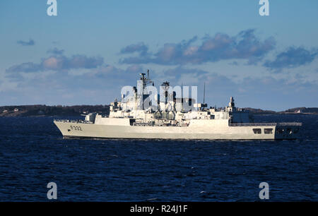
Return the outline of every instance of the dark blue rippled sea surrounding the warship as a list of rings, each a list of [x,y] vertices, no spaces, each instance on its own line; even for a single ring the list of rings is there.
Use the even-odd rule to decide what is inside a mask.
[[[52,117],[0,118],[0,200],[318,201],[318,115],[300,140],[66,140]]]

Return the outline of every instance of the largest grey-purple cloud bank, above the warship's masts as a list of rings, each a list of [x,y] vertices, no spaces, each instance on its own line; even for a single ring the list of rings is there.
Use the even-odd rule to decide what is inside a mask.
[[[273,37],[260,40],[255,30],[243,30],[235,36],[218,33],[206,35],[201,40],[193,37],[179,43],[166,43],[154,54],[148,52],[146,44],[131,44],[124,47],[121,54],[137,53],[121,59],[122,64],[184,65],[204,64],[227,59],[246,59],[248,64],[256,64],[271,50],[275,49]]]

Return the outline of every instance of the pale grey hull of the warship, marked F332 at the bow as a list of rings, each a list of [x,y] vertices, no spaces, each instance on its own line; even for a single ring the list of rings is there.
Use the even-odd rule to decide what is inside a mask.
[[[207,121],[208,122],[208,121]],[[132,138],[132,139],[202,139],[202,140],[274,140],[295,139],[276,134],[276,126],[228,126],[225,124],[205,124],[204,126],[109,126],[54,121],[64,138]],[[261,133],[254,133],[260,128]],[[272,133],[264,129],[272,128]]]

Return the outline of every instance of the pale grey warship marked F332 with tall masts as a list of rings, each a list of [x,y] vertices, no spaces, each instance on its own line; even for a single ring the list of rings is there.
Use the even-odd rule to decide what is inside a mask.
[[[208,108],[183,91],[180,97],[167,81],[158,95],[149,71],[140,76],[137,88],[127,87],[129,94],[110,104],[109,114],[54,119],[54,124],[64,138],[276,140],[296,139],[300,133],[300,122],[254,123],[247,110],[235,107],[233,97],[227,107]]]

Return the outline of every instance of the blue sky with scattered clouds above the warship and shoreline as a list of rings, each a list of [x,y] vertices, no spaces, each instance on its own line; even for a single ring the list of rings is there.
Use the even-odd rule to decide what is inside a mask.
[[[0,106],[110,104],[150,70],[198,100],[318,107],[318,1],[0,1]]]

